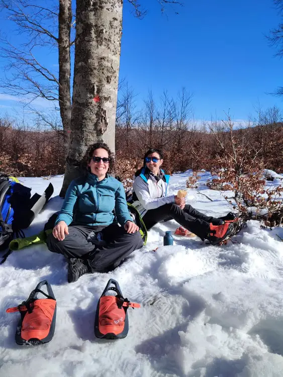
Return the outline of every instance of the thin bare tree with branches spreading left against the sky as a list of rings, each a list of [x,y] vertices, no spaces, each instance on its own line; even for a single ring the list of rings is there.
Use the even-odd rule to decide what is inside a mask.
[[[30,103],[37,98],[59,102],[67,151],[71,121],[71,0],[59,0],[59,9],[57,4],[45,8],[36,0],[1,0],[0,9],[7,12],[16,32],[26,37],[21,46],[2,39],[1,56],[7,61],[6,71],[12,73],[2,80],[1,87],[11,95],[26,96]],[[48,68],[43,58],[39,58],[46,47],[58,51],[58,70]]]

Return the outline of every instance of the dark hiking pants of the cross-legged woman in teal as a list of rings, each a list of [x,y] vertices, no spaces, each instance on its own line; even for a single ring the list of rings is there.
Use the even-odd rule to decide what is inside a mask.
[[[89,235],[100,232],[104,242],[93,244]],[[53,234],[46,240],[50,251],[66,258],[79,258],[87,262],[92,272],[107,272],[117,266],[134,250],[143,246],[140,232],[127,233],[124,227],[111,224],[105,228],[70,225],[69,234],[58,241]]]

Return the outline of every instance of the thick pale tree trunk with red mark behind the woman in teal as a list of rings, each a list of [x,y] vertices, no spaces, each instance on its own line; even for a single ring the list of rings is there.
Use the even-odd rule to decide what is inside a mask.
[[[77,0],[71,134],[60,196],[80,174],[88,145],[115,150],[123,0]]]

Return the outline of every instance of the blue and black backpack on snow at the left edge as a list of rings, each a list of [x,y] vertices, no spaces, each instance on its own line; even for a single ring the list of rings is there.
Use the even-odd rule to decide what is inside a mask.
[[[22,229],[30,226],[52,194],[53,186],[49,183],[43,195],[36,193],[31,198],[29,187],[0,173],[0,251],[9,246],[14,235],[24,237]]]

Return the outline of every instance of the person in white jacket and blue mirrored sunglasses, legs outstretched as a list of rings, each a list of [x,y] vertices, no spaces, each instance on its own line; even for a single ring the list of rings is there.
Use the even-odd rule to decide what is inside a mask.
[[[184,198],[167,195],[169,175],[160,168],[163,155],[159,149],[149,149],[144,155],[144,166],[135,173],[133,183],[133,205],[139,210],[149,230],[162,221],[174,219],[185,229],[195,233],[202,240],[218,244],[234,229],[223,218],[206,216],[190,205]]]

